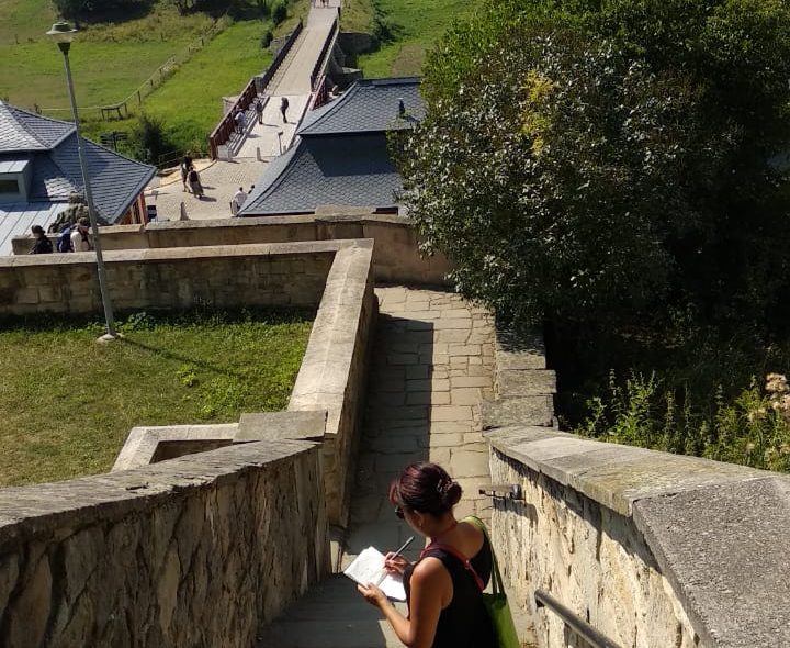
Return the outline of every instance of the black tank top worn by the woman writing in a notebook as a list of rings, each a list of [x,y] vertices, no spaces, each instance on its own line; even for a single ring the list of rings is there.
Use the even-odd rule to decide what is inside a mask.
[[[441,560],[453,583],[452,601],[439,614],[439,624],[431,648],[495,648],[494,628],[488,612],[483,605],[483,593],[472,572],[464,567],[460,558],[442,549],[428,548],[422,558],[428,557]],[[492,554],[487,539],[483,541],[483,547],[470,559],[470,562],[483,582],[488,584]],[[417,562],[408,566],[404,571],[407,604],[411,597],[411,572],[416,565]]]

